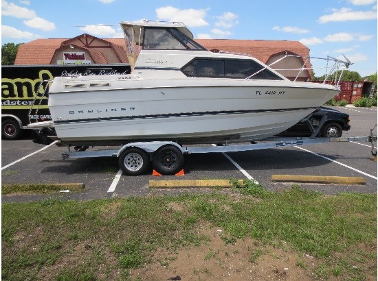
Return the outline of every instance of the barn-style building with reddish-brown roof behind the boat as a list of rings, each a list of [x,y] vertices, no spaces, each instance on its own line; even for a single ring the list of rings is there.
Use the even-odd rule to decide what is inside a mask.
[[[287,40],[232,40],[232,39],[197,39],[200,45],[214,52],[241,53],[253,56],[269,65],[285,55],[294,55],[280,60],[271,67],[285,77],[294,80],[298,70],[287,69],[311,68],[309,48],[298,41]],[[301,56],[301,57],[299,57]],[[19,46],[14,64],[124,64],[126,44],[123,38],[101,39],[90,34],[81,34],[70,39],[37,39]],[[311,78],[311,71],[300,72],[297,80]]]

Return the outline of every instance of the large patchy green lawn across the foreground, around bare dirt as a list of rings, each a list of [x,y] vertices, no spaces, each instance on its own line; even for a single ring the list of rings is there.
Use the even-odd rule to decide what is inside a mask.
[[[299,186],[272,193],[253,182],[234,191],[4,203],[2,278],[135,280],[131,269],[148,267],[156,252],[208,243],[203,225],[221,228],[227,245],[249,238],[312,256],[319,267],[300,259],[298,267],[316,279],[376,276],[376,194],[327,196]],[[261,254],[254,249],[250,262]]]

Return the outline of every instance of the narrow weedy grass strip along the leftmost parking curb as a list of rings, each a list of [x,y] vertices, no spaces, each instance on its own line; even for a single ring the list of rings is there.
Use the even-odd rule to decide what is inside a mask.
[[[59,191],[69,190],[82,191],[84,184],[66,183],[66,184],[1,184],[1,194],[40,194],[40,193],[58,193]]]

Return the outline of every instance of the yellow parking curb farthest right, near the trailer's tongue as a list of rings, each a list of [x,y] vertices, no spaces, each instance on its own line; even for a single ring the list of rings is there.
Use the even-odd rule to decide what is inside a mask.
[[[366,184],[362,177],[338,177],[322,175],[271,175],[272,182],[302,182],[317,184]]]

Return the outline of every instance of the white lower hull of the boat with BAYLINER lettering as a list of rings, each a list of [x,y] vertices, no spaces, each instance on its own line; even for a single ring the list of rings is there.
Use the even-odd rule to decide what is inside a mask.
[[[49,108],[58,138],[71,145],[260,140],[287,130],[338,93],[329,85],[287,81],[129,77],[83,80],[87,86],[54,80]]]

